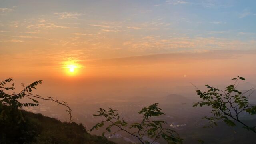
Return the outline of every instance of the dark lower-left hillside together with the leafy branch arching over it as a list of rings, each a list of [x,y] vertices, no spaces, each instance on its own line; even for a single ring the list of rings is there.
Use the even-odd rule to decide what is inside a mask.
[[[101,136],[88,134],[82,124],[70,123],[71,108],[66,102],[33,95],[32,89],[36,89],[42,80],[23,86],[24,89],[19,93],[9,94],[10,90],[14,90],[14,84],[11,87],[6,87],[6,84],[12,81],[9,78],[0,82],[0,144],[114,144]],[[22,98],[33,102],[21,103],[19,100]],[[62,123],[55,118],[20,110],[24,106],[39,106],[36,99],[66,106],[70,121]]]

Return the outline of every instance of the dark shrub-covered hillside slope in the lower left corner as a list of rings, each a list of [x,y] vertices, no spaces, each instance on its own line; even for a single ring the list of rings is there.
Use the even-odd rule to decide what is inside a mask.
[[[24,121],[19,122],[22,114]],[[115,144],[88,134],[82,124],[0,106],[0,144]]]

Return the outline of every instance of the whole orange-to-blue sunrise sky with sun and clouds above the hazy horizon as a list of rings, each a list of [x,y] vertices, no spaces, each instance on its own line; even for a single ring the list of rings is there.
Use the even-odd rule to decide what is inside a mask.
[[[146,85],[240,75],[254,82],[255,6],[255,0],[0,0],[0,78],[133,78]]]

